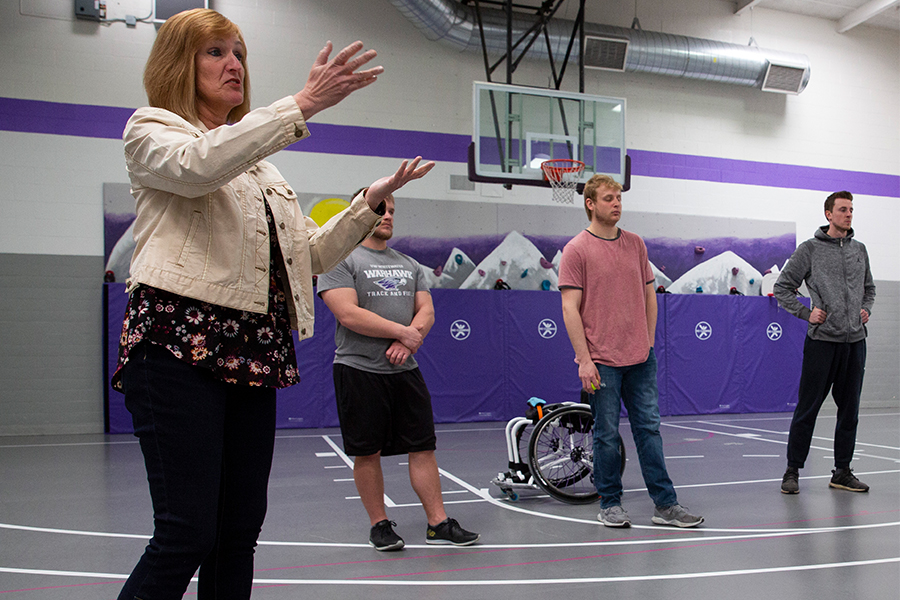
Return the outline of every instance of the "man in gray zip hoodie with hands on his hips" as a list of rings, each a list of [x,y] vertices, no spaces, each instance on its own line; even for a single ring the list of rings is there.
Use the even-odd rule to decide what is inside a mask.
[[[866,368],[866,323],[875,303],[875,283],[866,247],[853,239],[853,195],[835,192],[825,200],[828,225],[820,227],[791,256],[775,283],[778,303],[809,322],[803,344],[800,393],[788,436],[784,494],[800,491],[799,469],[809,455],[816,417],[831,391],[837,405],[834,470],[829,487],[868,492],[850,470],[859,421],[859,395]],[[803,282],[811,308],[797,300]]]

